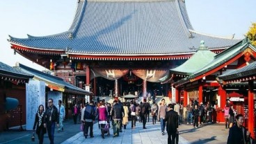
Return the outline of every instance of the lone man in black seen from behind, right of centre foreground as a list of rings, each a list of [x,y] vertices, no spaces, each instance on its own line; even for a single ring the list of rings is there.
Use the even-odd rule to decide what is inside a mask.
[[[168,105],[169,111],[166,112],[166,117],[164,118],[164,121],[166,123],[166,131],[168,133],[168,144],[174,144],[175,143],[175,137],[178,130],[178,119],[179,116],[176,111],[174,111],[174,105],[169,104]]]

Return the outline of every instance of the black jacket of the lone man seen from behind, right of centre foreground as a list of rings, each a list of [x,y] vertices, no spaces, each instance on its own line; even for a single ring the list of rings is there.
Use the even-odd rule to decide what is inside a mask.
[[[177,128],[179,127],[178,118],[178,113],[173,109],[166,112],[166,118],[164,118],[164,121],[167,122],[166,131],[168,134],[176,134]]]

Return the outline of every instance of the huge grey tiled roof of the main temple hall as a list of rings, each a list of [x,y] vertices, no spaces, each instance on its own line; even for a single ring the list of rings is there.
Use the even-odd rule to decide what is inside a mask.
[[[193,30],[184,0],[79,0],[70,29],[44,37],[10,37],[10,44],[80,55],[177,55],[195,52],[204,40],[209,49],[239,40]]]

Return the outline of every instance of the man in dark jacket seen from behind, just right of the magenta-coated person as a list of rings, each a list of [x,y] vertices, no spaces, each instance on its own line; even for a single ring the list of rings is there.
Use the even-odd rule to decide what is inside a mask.
[[[121,126],[121,120],[122,116],[124,116],[124,108],[122,105],[114,100],[115,105],[113,105],[113,109],[111,111],[111,115],[113,116],[113,137],[119,136],[120,132],[120,126]]]

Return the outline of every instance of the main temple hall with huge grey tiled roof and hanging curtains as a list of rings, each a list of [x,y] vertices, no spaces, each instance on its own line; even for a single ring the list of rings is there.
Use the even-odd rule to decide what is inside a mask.
[[[79,0],[67,31],[8,41],[16,53],[95,96],[134,91],[145,96],[159,89],[152,82],[160,84],[169,69],[186,62],[201,40],[214,56],[240,41],[233,38],[194,30],[184,0]]]

